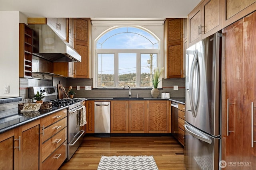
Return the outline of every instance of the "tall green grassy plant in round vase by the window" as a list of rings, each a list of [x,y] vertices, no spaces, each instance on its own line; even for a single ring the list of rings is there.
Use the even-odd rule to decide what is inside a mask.
[[[153,74],[150,77],[151,81],[152,81],[152,84],[153,84],[153,87],[154,87],[150,92],[150,94],[153,98],[157,98],[160,94],[157,86],[158,86],[158,83],[161,81],[160,76],[161,76],[163,70],[164,70],[164,68],[162,68],[162,69],[155,68],[154,71],[153,71]]]

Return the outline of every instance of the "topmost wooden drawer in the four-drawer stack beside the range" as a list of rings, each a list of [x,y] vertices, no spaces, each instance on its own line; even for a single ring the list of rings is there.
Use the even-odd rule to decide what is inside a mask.
[[[60,119],[66,117],[67,113],[68,113],[68,110],[63,109],[56,113],[52,113],[51,115],[43,117],[41,119],[41,125],[44,125],[44,127],[47,127],[47,126],[51,125],[52,123],[59,121]]]

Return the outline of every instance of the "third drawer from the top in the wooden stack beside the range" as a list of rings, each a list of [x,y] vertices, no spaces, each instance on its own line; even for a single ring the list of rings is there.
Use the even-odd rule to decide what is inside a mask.
[[[51,137],[42,145],[42,161],[44,161],[56,148],[67,139],[67,127]]]

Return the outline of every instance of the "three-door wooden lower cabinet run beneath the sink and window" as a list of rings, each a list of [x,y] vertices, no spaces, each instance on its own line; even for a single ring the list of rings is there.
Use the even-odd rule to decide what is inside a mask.
[[[111,133],[170,133],[168,100],[111,101]]]

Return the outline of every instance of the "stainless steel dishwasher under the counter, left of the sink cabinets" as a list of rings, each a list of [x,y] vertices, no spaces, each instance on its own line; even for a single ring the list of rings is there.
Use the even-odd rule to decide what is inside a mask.
[[[110,137],[110,102],[94,102],[94,136]]]

